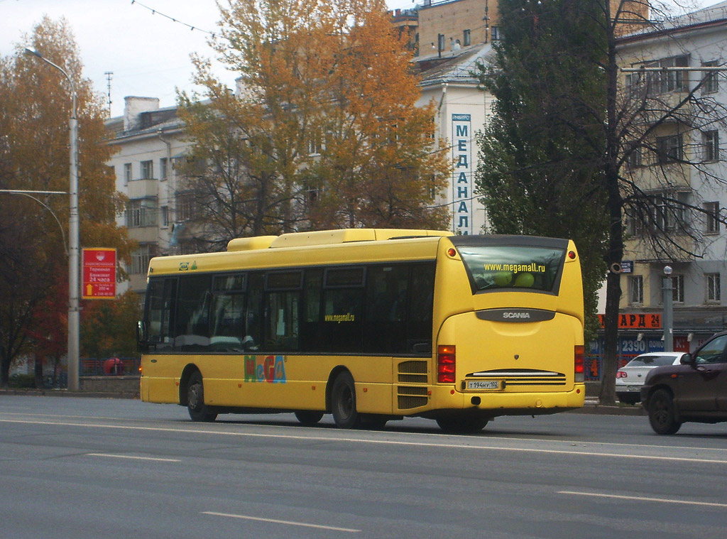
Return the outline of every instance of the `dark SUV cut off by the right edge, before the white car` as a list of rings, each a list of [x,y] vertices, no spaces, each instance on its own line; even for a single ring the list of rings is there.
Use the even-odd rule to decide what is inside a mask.
[[[674,434],[685,421],[727,421],[727,332],[685,354],[680,364],[651,370],[641,402],[657,434]]]

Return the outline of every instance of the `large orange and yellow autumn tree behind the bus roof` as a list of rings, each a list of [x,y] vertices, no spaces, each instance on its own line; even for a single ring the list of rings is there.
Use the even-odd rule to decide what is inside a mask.
[[[450,164],[384,2],[224,4],[212,44],[238,92],[196,59],[209,101],[180,96],[199,230],[220,247],[306,228],[446,226],[433,200]]]

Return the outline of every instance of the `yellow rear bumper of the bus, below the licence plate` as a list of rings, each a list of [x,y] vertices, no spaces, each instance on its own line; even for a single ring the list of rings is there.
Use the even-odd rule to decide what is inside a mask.
[[[436,418],[438,415],[451,414],[453,410],[481,412],[481,415],[546,415],[582,408],[585,404],[585,384],[574,384],[571,391],[538,393],[507,393],[503,391],[485,392],[454,391],[452,386],[431,388],[430,410],[422,412],[422,417]]]

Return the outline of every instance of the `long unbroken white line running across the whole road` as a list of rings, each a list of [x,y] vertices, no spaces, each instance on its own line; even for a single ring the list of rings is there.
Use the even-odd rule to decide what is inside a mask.
[[[575,450],[549,450],[542,448],[533,447],[498,447],[495,445],[475,445],[473,442],[477,442],[477,438],[463,439],[463,444],[443,444],[435,442],[402,442],[401,440],[374,440],[374,439],[362,439],[362,438],[351,438],[351,437],[326,437],[326,436],[300,436],[295,434],[260,434],[254,432],[224,432],[215,431],[206,428],[168,428],[168,427],[143,427],[143,426],[126,426],[126,425],[102,425],[100,423],[69,423],[65,421],[36,421],[36,420],[14,420],[14,419],[2,419],[0,423],[25,423],[29,425],[55,425],[55,426],[71,426],[81,428],[113,428],[120,430],[131,430],[131,431],[152,431],[152,432],[171,432],[171,433],[196,433],[196,434],[217,434],[218,436],[244,436],[248,438],[268,438],[268,439],[290,439],[290,440],[302,440],[305,442],[353,442],[358,444],[381,444],[381,445],[400,445],[409,447],[439,447],[439,448],[459,448],[459,449],[470,449],[470,450],[494,450],[494,451],[511,451],[511,452],[531,452],[531,453],[542,453],[550,455],[579,455],[582,457],[606,457],[606,458],[630,458],[634,460],[666,460],[670,462],[684,462],[684,463],[709,463],[709,464],[727,464],[727,459],[716,459],[716,458],[694,458],[690,457],[670,457],[662,455],[644,455],[635,454],[628,455],[626,453],[616,452],[586,452],[586,451],[575,451]],[[517,439],[515,439],[517,441]],[[539,442],[542,442],[540,440]],[[571,442],[561,442],[571,443]],[[643,446],[641,446],[643,449]],[[662,446],[656,446],[657,449]]]

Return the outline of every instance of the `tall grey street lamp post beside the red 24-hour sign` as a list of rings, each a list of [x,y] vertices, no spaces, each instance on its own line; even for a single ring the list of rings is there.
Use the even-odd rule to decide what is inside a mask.
[[[76,84],[65,69],[41,55],[40,52],[25,49],[25,52],[39,57],[52,65],[71,85],[71,119],[68,129],[71,139],[70,178],[68,195],[71,211],[68,214],[68,390],[79,391],[79,122],[76,119]]]

